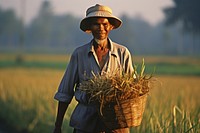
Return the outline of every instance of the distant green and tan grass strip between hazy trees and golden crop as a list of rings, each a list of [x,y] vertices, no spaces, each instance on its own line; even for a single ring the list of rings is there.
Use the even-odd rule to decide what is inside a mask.
[[[51,68],[64,70],[69,55],[0,54],[0,68]],[[134,56],[133,63],[141,64],[145,59],[146,73],[156,75],[196,75],[200,76],[200,57]]]

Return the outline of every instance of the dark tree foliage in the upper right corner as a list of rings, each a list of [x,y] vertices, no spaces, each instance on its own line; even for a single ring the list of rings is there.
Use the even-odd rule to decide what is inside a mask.
[[[200,0],[173,0],[174,7],[164,9],[166,24],[178,21],[183,24],[185,31],[200,33]]]

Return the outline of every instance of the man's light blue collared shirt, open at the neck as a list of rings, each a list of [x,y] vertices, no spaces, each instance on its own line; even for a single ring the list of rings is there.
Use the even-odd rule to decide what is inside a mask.
[[[66,72],[60,83],[54,98],[58,101],[70,103],[73,96],[78,101],[74,109],[70,126],[92,132],[96,128],[101,128],[100,118],[94,105],[88,103],[85,92],[79,90],[79,84],[88,78],[93,77],[92,72],[101,74],[103,72],[112,73],[121,69],[125,73],[133,73],[132,59],[129,50],[122,45],[112,42],[109,39],[110,50],[105,65],[101,69],[94,51],[93,40],[75,49]]]

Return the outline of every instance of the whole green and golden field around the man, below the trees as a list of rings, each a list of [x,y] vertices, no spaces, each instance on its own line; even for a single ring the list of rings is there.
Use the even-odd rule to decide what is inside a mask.
[[[134,57],[138,64],[142,58]],[[200,76],[193,74],[199,73],[199,59],[144,58],[149,72],[153,71],[153,65],[159,63],[165,64],[163,68],[166,69],[168,68],[166,64],[177,65],[178,68],[185,67],[182,65],[187,64],[190,71],[187,73],[180,71],[175,75],[164,69],[160,73],[155,72],[154,77],[158,82],[150,90],[142,124],[133,127],[131,131],[134,133],[200,132],[200,101],[198,100]],[[26,55],[20,63],[15,59],[14,55],[0,55],[0,124],[7,125],[18,133],[50,133],[54,127],[57,110],[57,102],[53,97],[69,56]],[[160,66],[156,69],[159,70]],[[75,105],[76,101],[73,100],[65,115],[63,133],[72,132],[68,124]]]

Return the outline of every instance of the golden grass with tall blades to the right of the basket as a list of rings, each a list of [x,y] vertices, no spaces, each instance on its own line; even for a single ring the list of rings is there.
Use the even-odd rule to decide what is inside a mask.
[[[197,133],[200,131],[199,77],[160,76],[150,91],[143,121],[135,133]]]

